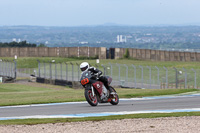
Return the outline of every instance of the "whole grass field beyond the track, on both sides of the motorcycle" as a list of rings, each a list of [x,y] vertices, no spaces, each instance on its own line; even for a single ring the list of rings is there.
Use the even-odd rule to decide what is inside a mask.
[[[120,98],[170,95],[199,91],[197,89],[125,89],[116,88]],[[40,83],[0,85],[0,106],[85,101],[84,89]]]

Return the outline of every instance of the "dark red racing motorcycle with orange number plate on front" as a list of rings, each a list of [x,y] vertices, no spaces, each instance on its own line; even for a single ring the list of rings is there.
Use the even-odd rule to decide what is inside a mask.
[[[91,106],[97,106],[98,103],[108,103],[117,105],[119,103],[119,97],[116,90],[110,86],[112,78],[106,76],[108,79],[109,87],[114,94],[110,94],[110,91],[106,89],[101,81],[98,81],[97,75],[92,75],[90,71],[83,72],[81,76],[81,84],[85,88],[85,98]]]

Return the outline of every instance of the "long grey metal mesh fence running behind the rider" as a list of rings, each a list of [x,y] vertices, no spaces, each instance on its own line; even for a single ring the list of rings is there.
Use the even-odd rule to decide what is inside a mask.
[[[45,79],[79,81],[78,63],[52,63],[38,61],[37,76]],[[94,64],[103,75],[113,78],[112,85],[130,88],[199,88],[200,70],[127,64]]]

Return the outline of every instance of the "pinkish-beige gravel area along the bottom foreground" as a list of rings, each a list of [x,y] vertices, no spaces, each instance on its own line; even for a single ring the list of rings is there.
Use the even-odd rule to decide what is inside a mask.
[[[199,133],[200,116],[38,125],[0,125],[0,133]]]

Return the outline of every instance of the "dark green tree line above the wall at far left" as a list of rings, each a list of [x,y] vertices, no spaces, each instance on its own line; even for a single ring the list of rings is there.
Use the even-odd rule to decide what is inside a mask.
[[[0,42],[0,47],[46,47],[44,44],[28,43],[26,41],[21,42]]]

